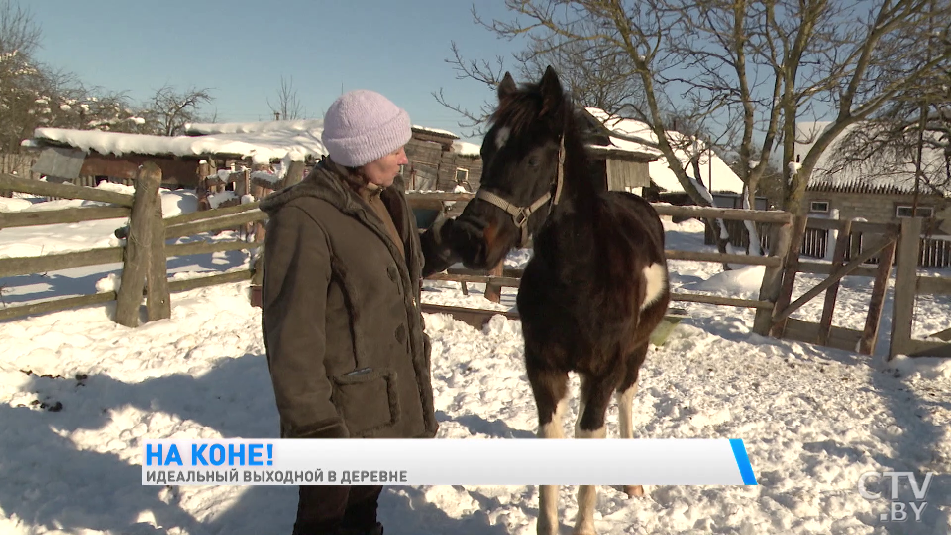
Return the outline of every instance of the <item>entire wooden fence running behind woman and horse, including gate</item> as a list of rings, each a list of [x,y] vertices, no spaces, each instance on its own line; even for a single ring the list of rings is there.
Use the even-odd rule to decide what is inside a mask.
[[[296,174],[289,175],[291,180]],[[262,245],[262,224],[266,218],[258,202],[239,204],[224,208],[213,208],[174,217],[163,218],[159,202],[161,170],[152,164],[140,168],[135,180],[135,195],[126,195],[96,188],[77,188],[75,186],[51,184],[24,179],[9,174],[0,174],[0,189],[23,193],[56,196],[68,199],[99,201],[111,206],[89,208],[64,208],[49,211],[29,211],[0,213],[0,228],[50,225],[57,223],[76,223],[80,221],[129,217],[125,230],[126,245],[113,248],[48,254],[38,257],[0,259],[0,278],[43,273],[51,270],[98,266],[123,263],[122,285],[118,292],[107,291],[78,297],[60,298],[29,305],[0,309],[0,320],[21,317],[29,314],[46,313],[73,307],[102,304],[116,301],[115,321],[129,327],[140,324],[140,308],[143,296],[146,298],[146,321],[170,316],[170,292],[204,287],[216,284],[251,280],[252,303],[255,302],[254,288],[260,288],[262,265],[260,255],[250,268],[208,275],[186,280],[169,280],[166,271],[166,259],[169,256],[208,253],[224,250],[251,250]],[[265,195],[271,190],[268,186],[283,187],[283,183],[257,185],[256,193]],[[245,183],[244,188],[255,188],[253,183]],[[255,195],[257,196],[257,195]],[[467,202],[472,193],[407,193],[407,201],[412,206],[430,206],[432,202]],[[259,197],[260,198],[260,197]],[[461,204],[461,203],[460,203]],[[457,207],[456,207],[457,208]],[[738,264],[765,266],[766,272],[757,299],[738,299],[715,295],[677,291],[671,295],[672,301],[705,303],[726,307],[749,307],[756,310],[753,332],[761,335],[772,334],[789,337],[808,343],[841,347],[861,352],[874,349],[878,325],[882,316],[884,288],[892,267],[892,258],[897,258],[896,288],[892,321],[892,340],[889,354],[951,354],[951,344],[933,341],[913,340],[911,337],[915,296],[922,294],[951,295],[951,279],[940,277],[921,277],[917,275],[916,263],[902,262],[905,258],[918,258],[922,254],[921,219],[902,220],[896,224],[871,224],[852,221],[793,217],[785,211],[747,210],[742,208],[701,208],[678,207],[666,204],[654,205],[661,215],[676,217],[720,218],[728,221],[753,221],[767,228],[771,248],[769,256],[743,254],[725,254],[719,252],[668,249],[670,260],[690,260],[714,262],[718,264]],[[249,233],[254,241],[229,240],[223,242],[195,242],[167,245],[166,240],[199,234],[225,228],[247,228],[255,226],[256,231]],[[825,230],[836,229],[839,239],[831,264],[802,260],[801,245],[808,228]],[[852,236],[879,235],[878,240],[865,240],[856,246]],[[118,235],[118,234],[117,234]],[[868,267],[870,259],[881,258],[879,266]],[[816,287],[808,289],[804,295],[791,301],[793,281],[797,273],[828,274],[828,278]],[[863,275],[875,277],[866,325],[863,331],[845,329],[831,325],[835,304],[835,292],[844,275]],[[518,287],[520,269],[503,268],[501,265],[489,271],[474,271],[451,268],[444,273],[436,273],[431,280],[456,281],[460,283],[481,283],[486,285],[486,296],[495,297],[502,287]],[[805,302],[825,292],[826,303],[822,319],[810,324],[790,318],[790,314]],[[257,295],[260,299],[260,293]],[[790,302],[791,301],[791,302]],[[426,304],[423,311],[435,311]],[[440,307],[438,311],[446,311]],[[515,312],[497,310],[453,308],[458,314],[504,313],[517,318]],[[455,310],[458,308],[457,310]],[[951,341],[951,328],[935,333],[935,338]]]

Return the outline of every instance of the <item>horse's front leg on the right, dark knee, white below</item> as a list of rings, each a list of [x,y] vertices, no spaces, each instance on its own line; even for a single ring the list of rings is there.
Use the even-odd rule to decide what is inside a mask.
[[[612,384],[613,383],[613,384]],[[607,436],[605,413],[616,383],[608,378],[581,376],[581,396],[574,438],[603,439]],[[578,515],[574,519],[574,535],[594,535],[594,505],[597,505],[597,487],[578,487]]]

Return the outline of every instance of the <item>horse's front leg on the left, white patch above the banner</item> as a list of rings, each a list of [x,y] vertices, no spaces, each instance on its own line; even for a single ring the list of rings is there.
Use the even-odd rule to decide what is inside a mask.
[[[562,417],[568,405],[568,373],[538,369],[526,362],[529,382],[538,407],[538,438],[565,438]],[[558,486],[538,488],[538,535],[557,535]]]

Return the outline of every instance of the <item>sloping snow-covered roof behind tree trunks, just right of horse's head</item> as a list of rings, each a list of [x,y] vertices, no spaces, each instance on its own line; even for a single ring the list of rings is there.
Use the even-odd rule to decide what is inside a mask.
[[[586,110],[612,132],[628,136],[638,136],[650,142],[657,142],[657,135],[646,123],[642,123],[634,119],[623,119],[599,108],[586,108]],[[680,142],[688,140],[685,134],[681,132],[668,130],[667,134],[670,139],[674,141]],[[670,166],[667,163],[667,158],[663,156],[659,149],[654,149],[642,143],[626,141],[613,136],[609,137],[609,139],[611,141],[611,146],[616,149],[630,152],[642,152],[658,156],[657,160],[648,164],[650,180],[653,181],[653,183],[658,187],[664,188],[666,192],[684,192],[684,187],[681,186],[680,181],[677,180],[677,176],[673,174],[673,171],[670,169]],[[693,141],[699,149],[703,150],[704,144],[702,141],[690,141]],[[605,149],[611,149],[611,147],[609,146]],[[684,166],[684,168],[688,169],[688,172],[691,172],[690,168],[688,168],[690,161],[688,153],[683,149],[674,149],[674,154],[676,154],[677,159],[680,160],[681,166]],[[716,155],[715,152],[711,153],[708,150],[703,150],[701,153],[700,175],[704,186],[706,186],[711,192],[743,193],[743,181],[739,176],[737,176],[735,172],[733,172],[731,168],[729,168],[726,162]]]

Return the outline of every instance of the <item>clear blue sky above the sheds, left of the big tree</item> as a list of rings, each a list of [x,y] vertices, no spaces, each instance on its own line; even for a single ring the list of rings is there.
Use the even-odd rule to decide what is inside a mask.
[[[467,57],[510,56],[516,44],[477,26],[459,0],[45,0],[22,2],[43,30],[38,58],[87,85],[126,91],[139,102],[164,85],[210,88],[220,121],[273,119],[281,76],[308,117],[343,90],[377,90],[414,124],[449,129],[461,117],[432,96],[477,109],[494,94],[456,80],[445,60],[456,41]],[[501,2],[483,17],[508,18]],[[511,67],[510,67],[511,68]],[[515,70],[515,69],[513,69]],[[478,140],[473,140],[478,141]]]

